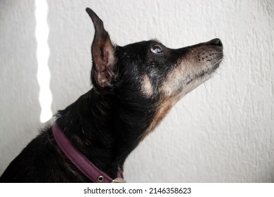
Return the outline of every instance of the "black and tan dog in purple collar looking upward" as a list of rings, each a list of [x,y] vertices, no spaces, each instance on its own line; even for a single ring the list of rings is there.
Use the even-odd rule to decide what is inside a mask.
[[[0,182],[124,182],[119,174],[131,151],[223,59],[220,39],[181,49],[155,39],[115,45],[98,15],[86,12],[95,27],[93,87],[56,113],[55,123],[8,165]]]

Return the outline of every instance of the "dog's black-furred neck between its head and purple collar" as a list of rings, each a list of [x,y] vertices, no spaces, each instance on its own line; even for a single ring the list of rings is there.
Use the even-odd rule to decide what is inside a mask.
[[[94,89],[56,116],[57,124],[72,144],[112,178],[150,122],[142,110],[133,111],[130,106],[121,105],[114,94],[101,96]]]

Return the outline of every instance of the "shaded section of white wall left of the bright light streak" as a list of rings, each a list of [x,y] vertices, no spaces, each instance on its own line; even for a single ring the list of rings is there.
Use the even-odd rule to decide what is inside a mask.
[[[34,1],[0,1],[0,174],[38,134]]]

